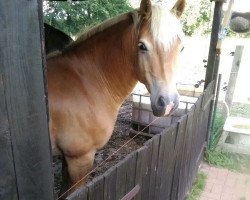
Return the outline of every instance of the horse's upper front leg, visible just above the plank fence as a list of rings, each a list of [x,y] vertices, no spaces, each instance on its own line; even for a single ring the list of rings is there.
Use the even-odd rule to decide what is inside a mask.
[[[90,151],[80,156],[65,156],[68,164],[68,173],[70,179],[70,192],[86,182],[88,172],[91,170],[96,151]]]

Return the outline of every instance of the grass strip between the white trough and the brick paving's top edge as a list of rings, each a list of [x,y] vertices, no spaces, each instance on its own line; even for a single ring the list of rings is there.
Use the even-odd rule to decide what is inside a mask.
[[[223,151],[207,150],[205,161],[238,172],[250,171],[250,156]]]

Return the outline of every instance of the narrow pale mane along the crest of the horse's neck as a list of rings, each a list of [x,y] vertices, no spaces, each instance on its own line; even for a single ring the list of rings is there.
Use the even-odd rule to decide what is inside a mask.
[[[111,19],[107,19],[106,21],[102,22],[101,24],[97,24],[95,26],[90,27],[89,29],[85,30],[84,32],[80,33],[77,39],[71,42],[64,50],[71,49],[72,47],[77,46],[79,43],[87,40],[88,38],[92,37],[93,35],[104,31],[107,28],[112,27],[113,25],[117,24],[118,22],[124,21],[128,18],[132,17],[134,24],[138,22],[138,10],[133,10]]]

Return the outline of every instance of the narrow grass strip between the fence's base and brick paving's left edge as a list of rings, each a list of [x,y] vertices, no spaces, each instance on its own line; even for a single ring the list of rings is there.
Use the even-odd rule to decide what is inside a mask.
[[[193,183],[192,189],[185,198],[185,200],[197,200],[200,197],[205,187],[206,178],[207,175],[204,172],[198,172],[195,182]]]

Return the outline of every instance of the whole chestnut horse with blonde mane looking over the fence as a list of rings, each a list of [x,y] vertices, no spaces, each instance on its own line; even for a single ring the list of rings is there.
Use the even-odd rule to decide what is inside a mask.
[[[84,182],[95,152],[109,140],[118,109],[138,80],[149,90],[156,116],[178,106],[173,75],[184,1],[169,11],[142,0],[138,10],[92,28],[48,57],[52,151],[63,153],[71,185]]]

